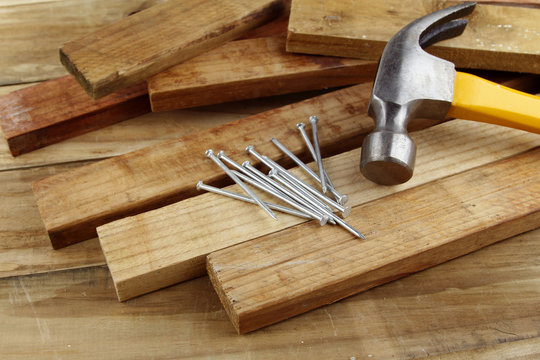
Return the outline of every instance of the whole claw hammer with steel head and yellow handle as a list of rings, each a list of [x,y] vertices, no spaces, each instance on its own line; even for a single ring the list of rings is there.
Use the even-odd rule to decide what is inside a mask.
[[[540,134],[540,98],[477,76],[424,51],[461,35],[476,3],[466,2],[423,16],[401,29],[381,56],[368,108],[375,128],[362,145],[360,170],[381,185],[412,177],[416,145],[407,133],[414,118],[447,116]]]

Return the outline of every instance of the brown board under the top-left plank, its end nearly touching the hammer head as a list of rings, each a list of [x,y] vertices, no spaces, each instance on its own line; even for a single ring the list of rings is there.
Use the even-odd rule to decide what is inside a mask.
[[[148,80],[152,111],[324,89],[373,81],[377,63],[295,55],[282,37],[239,40]]]

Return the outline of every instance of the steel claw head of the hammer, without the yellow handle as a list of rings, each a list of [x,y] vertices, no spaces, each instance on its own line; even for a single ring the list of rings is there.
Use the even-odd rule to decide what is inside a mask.
[[[476,3],[466,2],[421,17],[386,45],[379,62],[368,113],[375,128],[362,145],[360,170],[382,185],[409,180],[416,145],[407,133],[413,118],[444,119],[454,93],[454,64],[424,51],[460,35]]]

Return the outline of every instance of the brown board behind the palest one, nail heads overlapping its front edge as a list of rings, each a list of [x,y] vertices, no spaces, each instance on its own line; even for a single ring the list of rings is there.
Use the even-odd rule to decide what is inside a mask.
[[[357,85],[38,181],[34,192],[52,244],[94,237],[99,225],[192,196],[201,179],[222,183],[223,174],[204,161],[209,147],[234,156],[250,142],[277,159],[279,152],[268,144],[275,136],[302,152],[301,139],[288,135],[312,114],[327,124],[320,131],[325,155],[356,147],[372,128],[366,115],[370,91],[370,84]]]

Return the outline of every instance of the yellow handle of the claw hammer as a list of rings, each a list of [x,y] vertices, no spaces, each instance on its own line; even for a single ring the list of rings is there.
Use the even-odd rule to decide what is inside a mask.
[[[462,72],[448,115],[540,134],[540,97]]]

